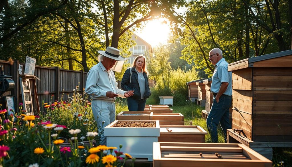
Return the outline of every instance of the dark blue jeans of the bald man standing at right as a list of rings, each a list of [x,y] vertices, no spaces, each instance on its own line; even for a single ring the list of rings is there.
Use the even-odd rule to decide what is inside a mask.
[[[223,94],[219,98],[217,103],[216,96],[213,97],[213,104],[211,106],[211,111],[207,118],[207,128],[211,135],[211,140],[214,143],[218,143],[218,132],[217,126],[221,125],[223,129],[225,143],[227,142],[227,129],[231,129],[229,122],[229,108],[231,107],[232,97]]]

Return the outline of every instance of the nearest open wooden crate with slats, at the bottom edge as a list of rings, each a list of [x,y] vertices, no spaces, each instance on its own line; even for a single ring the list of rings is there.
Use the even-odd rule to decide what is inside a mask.
[[[154,142],[153,166],[271,167],[272,161],[244,144]]]

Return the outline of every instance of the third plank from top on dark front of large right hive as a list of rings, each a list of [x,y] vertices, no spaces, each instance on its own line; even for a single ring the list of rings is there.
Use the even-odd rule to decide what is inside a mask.
[[[255,90],[253,100],[255,101],[285,101],[292,100],[292,90]]]

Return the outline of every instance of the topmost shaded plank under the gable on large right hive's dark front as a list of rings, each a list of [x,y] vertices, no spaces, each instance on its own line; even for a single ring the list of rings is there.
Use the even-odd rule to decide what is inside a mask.
[[[253,76],[292,76],[292,68],[253,68]]]

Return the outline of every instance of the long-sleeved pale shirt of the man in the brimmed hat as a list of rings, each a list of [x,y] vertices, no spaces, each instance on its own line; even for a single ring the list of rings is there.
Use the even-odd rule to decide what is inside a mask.
[[[106,96],[108,91],[119,94],[119,97],[124,97],[125,91],[118,88],[116,77],[112,69],[106,70],[101,62],[93,66],[87,73],[85,92],[94,99],[114,101],[116,97],[109,98]]]

